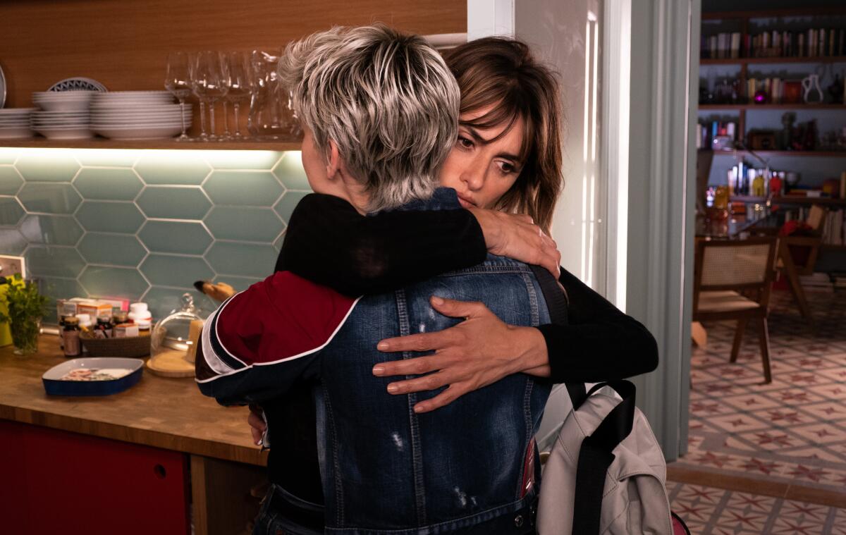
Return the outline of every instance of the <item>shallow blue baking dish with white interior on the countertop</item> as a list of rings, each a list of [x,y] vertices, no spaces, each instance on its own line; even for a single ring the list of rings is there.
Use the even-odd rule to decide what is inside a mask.
[[[107,369],[121,368],[131,370],[122,378],[105,381],[68,381],[62,377],[78,368]],[[141,359],[125,359],[117,357],[91,357],[74,359],[54,366],[44,372],[41,381],[44,389],[51,395],[109,395],[118,394],[134,386],[141,379],[144,371],[144,361]]]

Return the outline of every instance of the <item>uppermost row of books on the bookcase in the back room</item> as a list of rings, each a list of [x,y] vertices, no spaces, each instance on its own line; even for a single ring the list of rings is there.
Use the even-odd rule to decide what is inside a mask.
[[[819,58],[846,56],[846,29],[811,28],[805,31],[765,31],[743,36],[739,31],[702,36],[700,57]]]

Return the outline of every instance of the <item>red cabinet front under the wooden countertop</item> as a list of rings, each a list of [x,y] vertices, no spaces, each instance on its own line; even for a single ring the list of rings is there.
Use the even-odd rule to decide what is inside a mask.
[[[0,532],[186,535],[188,456],[0,420]]]

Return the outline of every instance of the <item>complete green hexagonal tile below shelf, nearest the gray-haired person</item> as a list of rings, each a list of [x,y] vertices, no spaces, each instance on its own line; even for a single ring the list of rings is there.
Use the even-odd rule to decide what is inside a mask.
[[[269,171],[215,171],[203,184],[203,189],[216,205],[254,207],[272,207],[284,191]]]

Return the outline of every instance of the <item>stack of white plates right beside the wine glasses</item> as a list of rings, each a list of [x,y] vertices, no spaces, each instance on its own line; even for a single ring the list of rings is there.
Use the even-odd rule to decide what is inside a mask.
[[[168,91],[110,91],[91,100],[91,129],[118,140],[173,137],[182,132],[179,104]],[[185,128],[191,125],[191,107],[184,109]]]

